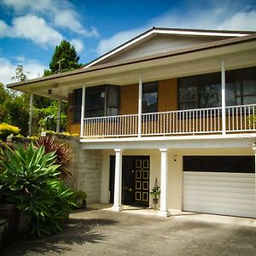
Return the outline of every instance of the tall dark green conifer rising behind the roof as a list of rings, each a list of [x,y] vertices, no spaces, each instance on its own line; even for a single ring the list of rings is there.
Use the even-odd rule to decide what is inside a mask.
[[[44,76],[53,73],[62,73],[82,66],[79,64],[79,55],[73,45],[63,40],[55,47],[55,53],[49,62],[49,70],[44,70]]]

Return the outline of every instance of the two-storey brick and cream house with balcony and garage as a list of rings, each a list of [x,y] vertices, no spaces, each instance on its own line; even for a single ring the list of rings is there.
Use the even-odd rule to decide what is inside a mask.
[[[152,206],[157,179],[160,216],[256,218],[256,32],[153,27],[79,70],[9,87],[68,102],[91,201]],[[83,178],[77,188],[90,195]]]

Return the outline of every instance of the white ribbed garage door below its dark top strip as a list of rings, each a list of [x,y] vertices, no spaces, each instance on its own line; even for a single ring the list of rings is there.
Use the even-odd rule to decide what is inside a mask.
[[[183,172],[183,210],[256,218],[255,174]]]

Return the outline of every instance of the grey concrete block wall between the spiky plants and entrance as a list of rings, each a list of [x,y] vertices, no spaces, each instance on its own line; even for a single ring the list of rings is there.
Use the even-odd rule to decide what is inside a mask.
[[[67,180],[69,187],[83,190],[87,203],[101,201],[102,191],[102,150],[84,150],[82,143],[73,138],[61,139],[73,150],[73,160],[69,166],[73,178]]]

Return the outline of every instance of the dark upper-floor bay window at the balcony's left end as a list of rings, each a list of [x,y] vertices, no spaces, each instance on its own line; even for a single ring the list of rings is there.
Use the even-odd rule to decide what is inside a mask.
[[[82,89],[73,92],[73,121],[81,119]],[[117,115],[119,112],[119,86],[99,85],[85,90],[84,117]]]

